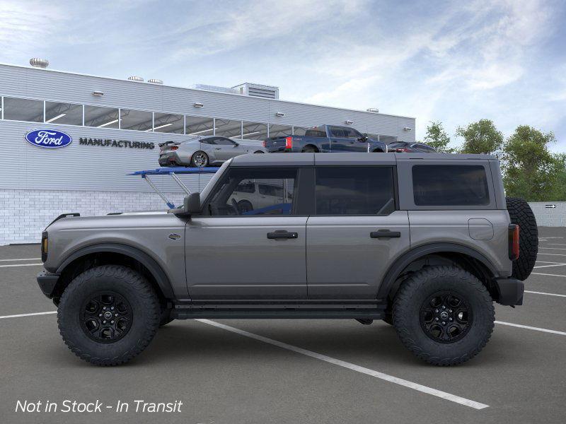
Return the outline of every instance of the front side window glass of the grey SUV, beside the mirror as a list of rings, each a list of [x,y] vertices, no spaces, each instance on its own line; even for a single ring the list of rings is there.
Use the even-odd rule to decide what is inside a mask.
[[[232,168],[214,187],[205,207],[212,216],[290,215],[296,174],[296,168],[290,167]]]

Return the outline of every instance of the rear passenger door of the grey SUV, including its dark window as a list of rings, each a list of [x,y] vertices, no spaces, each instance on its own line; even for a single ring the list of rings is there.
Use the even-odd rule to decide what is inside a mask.
[[[392,259],[409,249],[394,164],[316,166],[316,213],[306,227],[309,299],[375,299]]]

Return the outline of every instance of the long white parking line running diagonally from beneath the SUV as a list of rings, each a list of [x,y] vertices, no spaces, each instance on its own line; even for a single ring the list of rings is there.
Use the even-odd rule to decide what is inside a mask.
[[[446,393],[446,391],[440,391],[440,390],[437,390],[437,389],[432,389],[432,387],[423,386],[422,384],[410,382],[408,380],[401,379],[401,378],[398,378],[398,377],[393,377],[393,376],[388,375],[388,374],[383,374],[383,372],[370,370],[369,368],[365,368],[365,367],[360,367],[359,365],[354,365],[354,364],[348,363],[344,360],[331,358],[330,356],[322,355],[321,353],[307,351],[306,349],[299,348],[297,346],[292,346],[290,344],[283,343],[281,341],[273,340],[272,338],[258,336],[258,334],[253,334],[253,333],[249,333],[248,331],[236,329],[235,327],[220,324],[219,322],[214,322],[214,321],[211,321],[210,319],[197,319],[197,321],[202,322],[203,324],[216,326],[216,327],[218,327],[220,329],[224,329],[226,331],[231,331],[232,333],[240,334],[241,336],[254,338],[255,340],[262,341],[264,343],[269,343],[273,346],[277,346],[279,348],[287,349],[288,351],[293,351],[295,353],[300,353],[301,355],[310,356],[311,358],[316,358],[316,359],[319,359],[319,360],[323,360],[327,363],[338,365],[340,367],[345,367],[345,368],[348,368],[349,370],[361,372],[362,374],[370,375],[371,377],[383,379],[387,382],[399,384],[400,386],[408,387],[410,389],[415,389],[417,391],[422,391],[423,393],[431,394],[432,396],[437,396],[441,399],[446,399],[447,401],[455,402],[456,404],[469,406],[470,408],[474,408],[474,409],[483,409],[483,408],[489,407],[489,405],[480,404],[479,402],[471,401],[470,399],[466,399],[466,398],[463,398],[463,397],[460,397],[460,396],[456,396],[455,394]]]

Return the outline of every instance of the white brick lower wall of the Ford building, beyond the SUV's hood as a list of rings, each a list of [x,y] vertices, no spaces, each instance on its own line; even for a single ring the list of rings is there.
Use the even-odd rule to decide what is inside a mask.
[[[175,205],[183,202],[183,194],[166,196]],[[93,216],[166,208],[161,197],[151,192],[0,190],[0,245],[39,243],[42,230],[61,213]]]

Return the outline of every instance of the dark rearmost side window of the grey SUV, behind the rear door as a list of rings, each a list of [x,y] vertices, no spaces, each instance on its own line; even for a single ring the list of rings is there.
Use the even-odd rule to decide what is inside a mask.
[[[490,204],[481,165],[415,165],[412,189],[417,206],[485,206]]]

